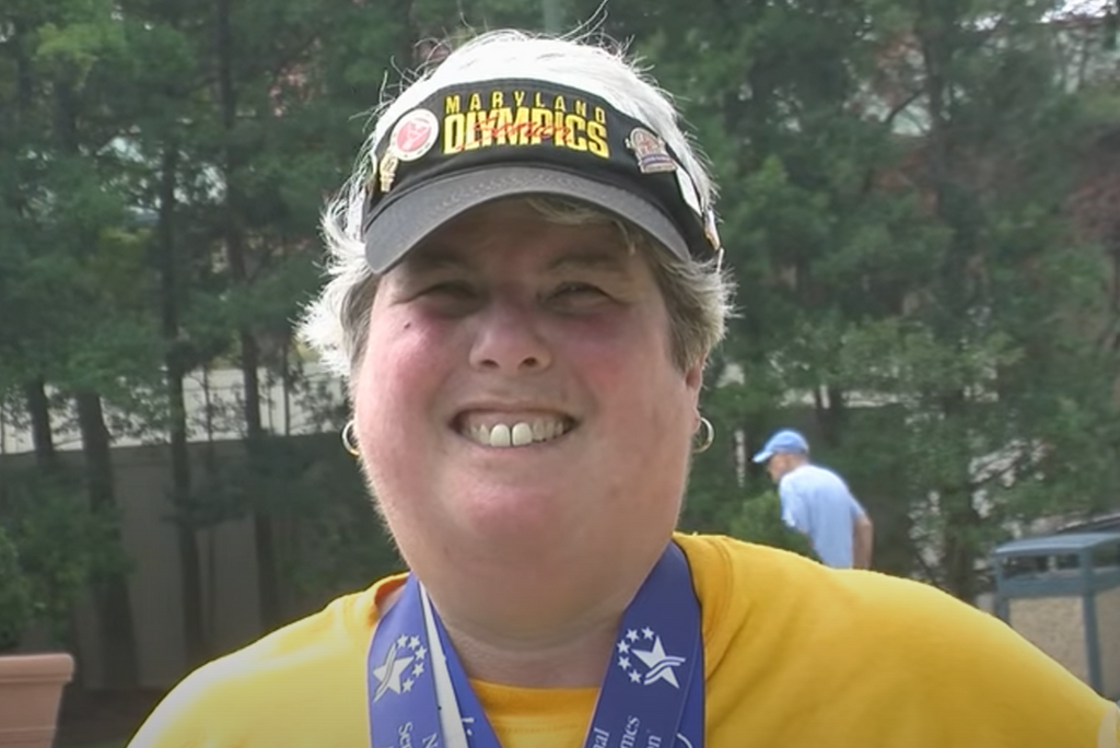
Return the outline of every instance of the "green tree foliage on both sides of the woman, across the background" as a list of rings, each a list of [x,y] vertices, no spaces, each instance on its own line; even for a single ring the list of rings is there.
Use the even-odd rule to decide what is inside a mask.
[[[291,320],[363,113],[435,38],[572,27],[601,3],[231,4],[225,56],[205,3],[0,11],[0,394],[40,377],[62,398],[94,391],[115,433],[166,440],[180,415],[169,361],[236,366],[252,336],[262,368],[298,376]],[[1114,504],[1114,305],[1064,206],[1084,143],[1120,109],[1111,90],[1058,85],[1046,9],[612,0],[597,17],[678,95],[721,185],[739,287],[702,394],[717,440],[693,460],[682,526],[799,540],[743,465],[791,415],[869,506],[877,567],[898,573],[915,541],[976,557],[1011,522]],[[337,428],[342,410],[316,403],[311,419]],[[244,430],[241,410],[223,415]],[[395,555],[334,442],[277,427],[244,462],[199,460],[176,518],[289,520],[307,531],[282,559],[293,583],[362,585]],[[978,470],[993,455],[1000,467]],[[112,518],[77,509],[76,486],[25,478],[4,488],[27,523],[9,530],[59,619],[82,579],[113,567],[95,540]]]

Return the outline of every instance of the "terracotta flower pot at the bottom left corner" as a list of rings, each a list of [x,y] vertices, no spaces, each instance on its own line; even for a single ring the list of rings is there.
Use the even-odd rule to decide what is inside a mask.
[[[65,653],[0,655],[0,748],[50,748],[73,675]]]

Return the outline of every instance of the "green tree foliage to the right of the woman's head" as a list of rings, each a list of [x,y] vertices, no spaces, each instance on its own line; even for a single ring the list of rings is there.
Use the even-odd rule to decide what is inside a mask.
[[[724,356],[755,393],[727,427],[757,443],[804,403],[881,540],[969,559],[928,570],[962,595],[1010,520],[1109,503],[1116,315],[1065,206],[1117,110],[1063,87],[1045,9],[701,2],[683,22],[622,4],[722,184],[743,310]],[[856,418],[871,409],[889,417]],[[701,494],[735,469],[697,465]]]

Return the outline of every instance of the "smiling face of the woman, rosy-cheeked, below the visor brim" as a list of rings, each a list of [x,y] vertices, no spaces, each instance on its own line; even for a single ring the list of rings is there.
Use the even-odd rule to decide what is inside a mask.
[[[409,564],[652,563],[675,525],[702,363],[609,224],[520,202],[445,225],[384,275],[354,378],[371,487]],[[427,568],[424,568],[427,567]]]

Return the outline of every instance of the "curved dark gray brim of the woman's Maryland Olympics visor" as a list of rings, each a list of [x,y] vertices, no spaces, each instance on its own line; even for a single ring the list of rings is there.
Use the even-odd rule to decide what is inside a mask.
[[[365,227],[366,261],[374,273],[384,273],[448,221],[493,200],[530,195],[599,207],[643,230],[676,258],[690,258],[673,222],[632,191],[544,166],[493,166],[424,181],[399,195],[390,193]]]

